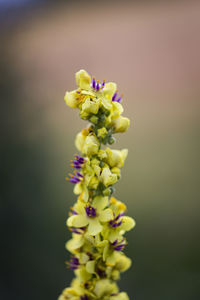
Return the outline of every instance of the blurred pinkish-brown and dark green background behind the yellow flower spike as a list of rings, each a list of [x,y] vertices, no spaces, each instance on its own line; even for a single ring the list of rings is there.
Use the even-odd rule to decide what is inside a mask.
[[[0,299],[55,300],[73,277],[65,176],[85,123],[63,96],[81,68],[118,83],[131,119],[114,145],[137,222],[120,288],[199,299],[200,2],[0,0],[0,20]]]

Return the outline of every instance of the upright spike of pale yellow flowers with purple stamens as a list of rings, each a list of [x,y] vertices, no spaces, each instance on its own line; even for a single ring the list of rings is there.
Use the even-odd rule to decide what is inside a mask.
[[[102,145],[113,144],[113,134],[125,132],[130,121],[122,116],[122,96],[115,83],[100,83],[84,70],[75,78],[78,88],[66,92],[65,102],[90,124],[76,136],[81,154],[72,160],[74,171],[66,178],[77,195],[67,219],[72,239],[66,243],[72,254],[67,264],[76,277],[59,300],[128,300],[116,281],[131,265],[122,251],[127,244],[124,234],[135,221],[125,215],[125,204],[113,197],[128,150]]]

